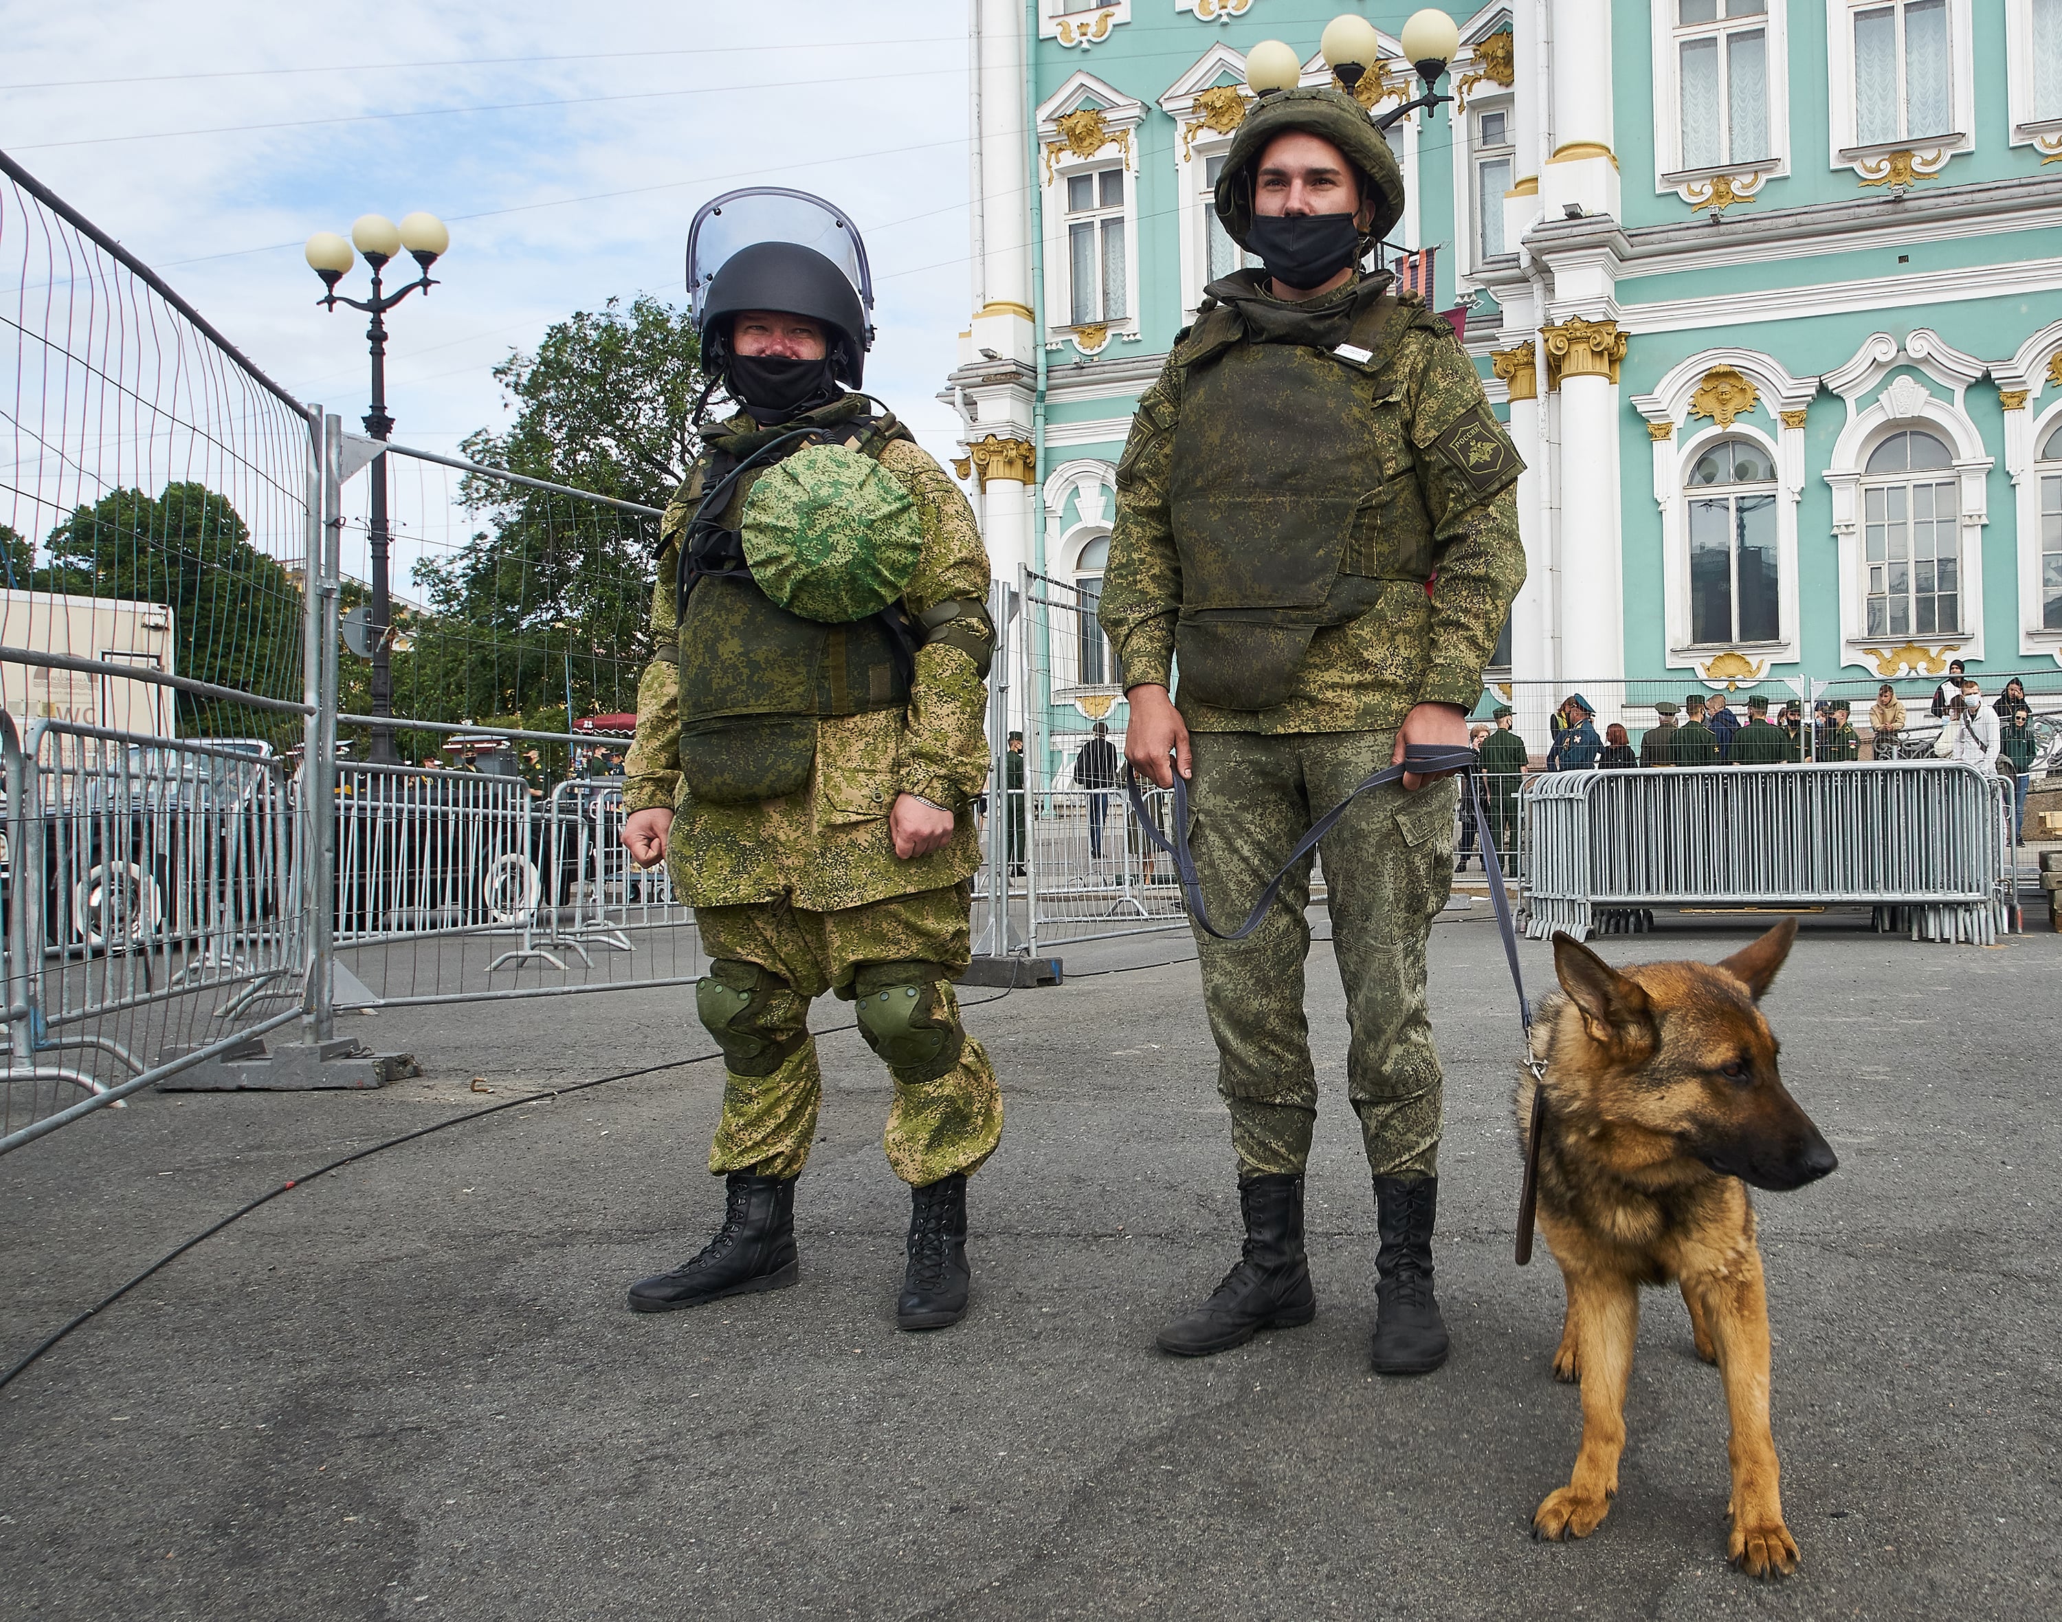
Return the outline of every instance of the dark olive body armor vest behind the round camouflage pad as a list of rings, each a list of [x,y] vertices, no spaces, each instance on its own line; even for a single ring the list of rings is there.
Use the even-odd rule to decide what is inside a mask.
[[[680,540],[680,775],[695,800],[722,806],[796,793],[814,769],[825,715],[909,703],[913,633],[899,604],[847,624],[792,614],[753,581],[736,534],[755,472],[823,443],[878,462],[891,441],[907,437],[893,416],[847,418],[769,455],[718,451],[691,486],[691,497],[716,495],[742,468],[722,511],[697,511]]]

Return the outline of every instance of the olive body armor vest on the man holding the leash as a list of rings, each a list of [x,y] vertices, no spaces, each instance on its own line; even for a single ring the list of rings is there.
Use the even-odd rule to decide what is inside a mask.
[[[1252,342],[1206,309],[1177,348],[1171,521],[1182,559],[1182,695],[1268,709],[1295,690],[1320,627],[1369,612],[1384,581],[1431,575],[1431,517],[1400,383],[1396,301],[1349,342]]]

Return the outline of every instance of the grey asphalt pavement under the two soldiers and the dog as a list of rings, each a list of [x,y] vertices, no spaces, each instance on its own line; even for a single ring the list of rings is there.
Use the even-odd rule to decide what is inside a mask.
[[[1693,923],[1598,948],[1749,938]],[[1163,934],[1062,954],[1190,952]],[[1549,983],[1544,946],[1524,962]],[[1788,1583],[1726,1564],[1724,1399],[1674,1292],[1643,1300],[1610,1517],[1582,1544],[1528,1537],[1579,1410],[1549,1373],[1559,1274],[1544,1251],[1511,1263],[1518,1022],[1476,905],[1433,934],[1456,1348],[1437,1375],[1367,1368],[1375,1220],[1328,946],[1318,1319],[1198,1362],[1153,1350],[1237,1247],[1194,967],[969,989],[1008,1123],[969,1191],[959,1327],[895,1331],[907,1193],[856,1035],[823,1041],[800,1286],[691,1313],[635,1317],[623,1290],[720,1216],[718,1066],[536,1096],[285,1193],[0,1391],[0,1616],[2050,1616],[2058,971],[2054,934],[1928,946],[1821,919],[1769,995],[1786,1082],[1841,1156],[1757,1195]],[[707,1051],[680,991],[348,1028],[427,1074],[144,1094],[0,1160],[0,1362],[353,1148]]]

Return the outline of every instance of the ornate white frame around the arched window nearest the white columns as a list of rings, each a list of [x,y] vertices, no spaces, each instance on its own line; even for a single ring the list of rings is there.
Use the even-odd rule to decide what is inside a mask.
[[[1755,385],[1757,410],[1718,423],[1691,414],[1705,375],[1716,367],[1732,367]],[[1798,664],[1802,639],[1798,624],[1798,503],[1804,499],[1804,427],[1784,423],[1804,410],[1819,392],[1817,377],[1792,377],[1782,361],[1755,348],[1707,348],[1670,367],[1654,385],[1654,394],[1633,396],[1637,410],[1652,429],[1664,425],[1668,437],[1654,439],[1654,505],[1662,517],[1662,662],[1668,670],[1695,670],[1699,676],[1722,651],[1691,641],[1689,618],[1689,474],[1720,439],[1744,439],[1757,445],[1775,466],[1775,624],[1780,641],[1747,643],[1751,657],[1773,664]]]

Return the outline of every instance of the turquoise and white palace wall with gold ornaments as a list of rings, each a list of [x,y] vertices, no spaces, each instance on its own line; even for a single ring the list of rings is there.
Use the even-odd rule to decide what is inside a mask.
[[[1035,499],[1010,497],[994,478],[979,491],[1004,519],[1027,515],[1015,538],[992,542],[998,571],[1023,563],[1068,577],[1080,546],[1107,534],[1109,468],[1200,282],[1200,163],[1231,130],[1223,95],[1212,107],[1202,93],[1239,82],[1243,52],[1268,37],[1303,54],[1313,64],[1305,82],[1318,82],[1318,35],[1349,2],[1118,0],[1056,16],[1054,0],[1033,0],[1041,37],[1029,99],[1019,93],[1012,111],[984,97],[979,132],[994,150],[1025,128],[1025,107],[1035,120],[1045,328],[1035,334],[1021,319],[1002,346],[992,342],[1002,326],[977,315],[951,379],[959,396],[982,396],[969,445],[1017,433],[1025,455],[1015,470],[1039,486]],[[1514,612],[1507,676],[1720,684],[1744,666],[1916,684],[1957,653],[1975,670],[2062,662],[2062,633],[2039,629],[2041,476],[2031,468],[2062,390],[2062,359],[2052,359],[2062,350],[2062,89],[2050,89],[2058,105],[2033,105],[2037,89],[2062,87],[2062,62],[2035,52],[2033,16],[2062,0],[1944,4],[1957,126],[1944,134],[1955,138],[1856,146],[1856,6],[1767,0],[1759,23],[1734,27],[1765,33],[1773,138],[1697,171],[1681,167],[1676,142],[1678,0],[1505,0],[1456,19],[1464,52],[1445,89],[1462,89],[1466,105],[1392,134],[1412,194],[1398,237],[1406,249],[1437,249],[1435,303],[1472,305],[1468,348],[1530,466],[1520,511],[1532,581]],[[1394,52],[1390,31],[1412,6],[1357,8]],[[975,19],[1012,29],[1010,47],[1023,49],[1017,0],[975,0]],[[2056,29],[2039,35],[2056,41],[2048,56],[2062,54],[2062,19]],[[1926,78],[1924,62],[1909,76]],[[1509,251],[1483,260],[1468,142],[1474,113],[1491,105],[1507,111],[1516,185],[1501,200]],[[1109,144],[1089,138],[1083,109],[1101,109]],[[984,264],[1010,243],[1029,251],[1023,181],[1033,155],[1015,140],[1015,188],[994,190],[996,165],[982,169],[994,192],[977,210]],[[1196,165],[1186,153],[1200,155]],[[1128,188],[1132,297],[1109,332],[1078,332],[1054,307],[1066,293],[1058,210],[1068,173],[1109,163]],[[1023,268],[1023,286],[1031,280]],[[994,295],[977,289],[982,297]],[[1555,344],[1569,334],[1563,359]],[[1604,357],[1621,340],[1606,377]],[[1670,480],[1683,453],[1720,427],[1720,367],[1755,390],[1732,433],[1780,466],[1784,635],[1685,647],[1687,550]],[[1043,453],[1033,455],[1039,416]],[[1957,635],[1870,643],[1856,635],[1858,542],[1841,528],[1854,478],[1837,464],[1866,455],[1872,437],[1928,425],[1955,453],[1971,517],[1959,528],[1965,575],[1980,577],[1980,594]],[[969,464],[979,480],[979,458]],[[990,464],[1012,470],[1002,455]],[[1095,705],[1072,709],[1085,728]],[[1107,713],[1122,723],[1122,707]]]

